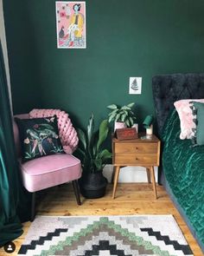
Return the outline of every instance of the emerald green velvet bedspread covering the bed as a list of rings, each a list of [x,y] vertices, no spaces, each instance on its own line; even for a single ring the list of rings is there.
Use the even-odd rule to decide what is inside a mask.
[[[204,131],[203,131],[204,132]],[[204,146],[180,140],[174,109],[163,128],[163,171],[172,193],[204,244]]]

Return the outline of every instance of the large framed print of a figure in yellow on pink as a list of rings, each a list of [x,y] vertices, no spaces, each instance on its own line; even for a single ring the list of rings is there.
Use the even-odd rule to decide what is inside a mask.
[[[86,2],[56,1],[58,49],[86,49]]]

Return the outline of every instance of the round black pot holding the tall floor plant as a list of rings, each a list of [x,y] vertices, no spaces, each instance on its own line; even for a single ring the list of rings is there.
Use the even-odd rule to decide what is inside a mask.
[[[107,183],[108,181],[102,172],[83,174],[80,179],[80,193],[89,199],[103,197]]]

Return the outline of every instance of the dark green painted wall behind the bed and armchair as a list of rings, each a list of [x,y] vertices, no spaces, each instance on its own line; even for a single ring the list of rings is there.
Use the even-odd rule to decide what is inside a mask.
[[[203,72],[203,0],[88,0],[86,49],[57,49],[54,0],[4,0],[14,112],[63,108],[86,125],[111,103],[154,113],[151,78]],[[129,95],[130,76],[143,77]]]

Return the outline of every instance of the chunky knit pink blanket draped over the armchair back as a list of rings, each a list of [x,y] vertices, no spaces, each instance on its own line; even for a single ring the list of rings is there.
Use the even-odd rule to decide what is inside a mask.
[[[61,144],[64,151],[67,154],[73,154],[73,151],[77,148],[79,138],[76,130],[73,128],[73,124],[68,117],[68,114],[61,109],[33,109],[29,112],[31,118],[41,118],[49,116],[57,116],[57,123],[59,129],[59,136],[61,138]]]

